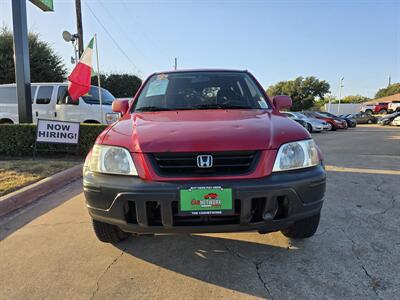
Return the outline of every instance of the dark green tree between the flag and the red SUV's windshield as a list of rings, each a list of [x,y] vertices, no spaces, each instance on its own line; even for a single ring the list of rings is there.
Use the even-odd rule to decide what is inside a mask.
[[[101,87],[107,89],[116,98],[132,98],[142,84],[142,80],[131,74],[101,74],[100,83]],[[97,76],[92,77],[92,84],[97,85]]]

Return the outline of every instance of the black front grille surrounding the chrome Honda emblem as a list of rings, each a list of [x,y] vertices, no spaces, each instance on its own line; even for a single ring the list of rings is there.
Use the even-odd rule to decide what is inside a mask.
[[[198,155],[212,155],[211,168],[197,166]],[[229,152],[178,152],[152,153],[149,159],[154,170],[161,176],[235,176],[250,173],[257,165],[259,151]]]

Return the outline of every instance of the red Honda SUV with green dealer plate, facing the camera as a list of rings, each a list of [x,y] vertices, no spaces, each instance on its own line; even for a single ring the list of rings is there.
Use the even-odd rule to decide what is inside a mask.
[[[97,237],[129,233],[317,230],[325,193],[322,155],[247,71],[151,75],[120,120],[97,138],[83,170]],[[217,195],[217,197],[214,197]]]

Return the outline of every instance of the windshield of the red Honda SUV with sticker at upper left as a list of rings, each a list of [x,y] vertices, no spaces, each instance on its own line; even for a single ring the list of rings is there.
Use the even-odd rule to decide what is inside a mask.
[[[253,78],[243,72],[178,72],[153,75],[135,111],[267,109]]]

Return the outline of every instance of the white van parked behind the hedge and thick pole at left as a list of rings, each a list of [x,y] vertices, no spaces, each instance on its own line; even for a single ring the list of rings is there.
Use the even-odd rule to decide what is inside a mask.
[[[101,89],[102,104],[99,101],[99,88],[91,86],[89,93],[73,102],[68,95],[68,83],[32,83],[32,117],[81,123],[110,124],[119,118],[112,112],[114,96]],[[101,115],[103,112],[103,117]],[[15,84],[0,85],[0,124],[18,123],[17,91]]]

